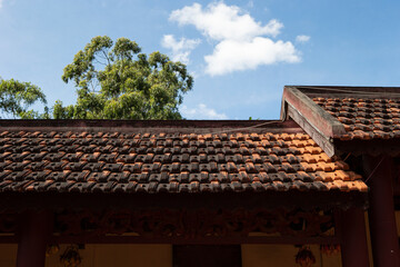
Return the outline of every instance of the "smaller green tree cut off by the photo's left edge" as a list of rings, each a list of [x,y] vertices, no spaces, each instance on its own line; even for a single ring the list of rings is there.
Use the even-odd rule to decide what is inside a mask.
[[[44,113],[29,109],[40,101],[44,105]],[[1,118],[44,119],[49,118],[46,96],[41,89],[30,82],[0,78],[0,110]]]

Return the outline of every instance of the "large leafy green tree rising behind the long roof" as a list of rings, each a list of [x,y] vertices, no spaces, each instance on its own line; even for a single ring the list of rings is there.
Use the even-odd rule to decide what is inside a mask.
[[[160,52],[141,53],[127,38],[113,44],[94,37],[62,75],[73,81],[77,103],[53,106],[54,119],[181,119],[178,106],[191,90],[186,66]]]

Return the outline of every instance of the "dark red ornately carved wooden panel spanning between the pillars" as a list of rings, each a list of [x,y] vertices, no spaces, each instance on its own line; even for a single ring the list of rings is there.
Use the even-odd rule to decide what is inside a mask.
[[[331,211],[313,210],[120,210],[63,211],[56,215],[60,236],[130,234],[146,238],[248,237],[259,233],[273,236],[332,236]]]

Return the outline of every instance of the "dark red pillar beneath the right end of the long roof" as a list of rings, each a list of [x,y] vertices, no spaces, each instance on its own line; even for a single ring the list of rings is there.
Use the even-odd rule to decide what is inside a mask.
[[[351,208],[341,212],[340,239],[343,267],[369,267],[364,211]]]

